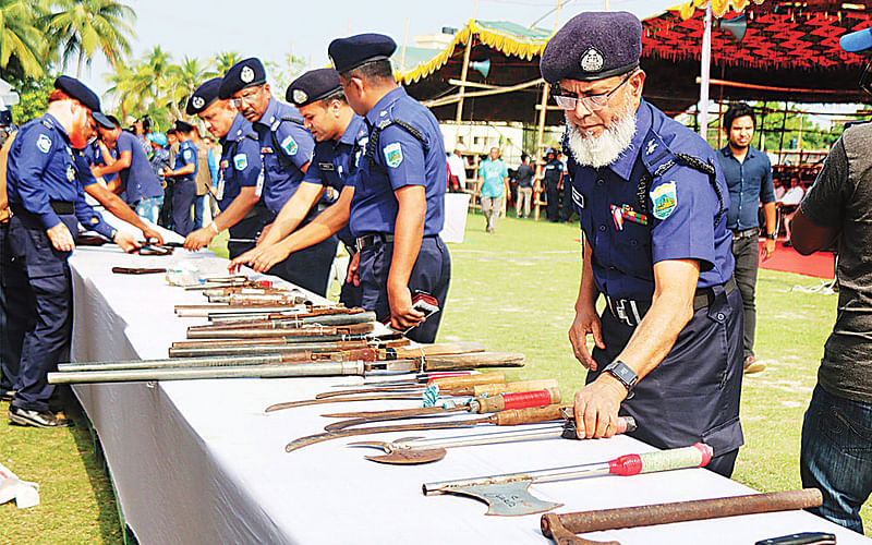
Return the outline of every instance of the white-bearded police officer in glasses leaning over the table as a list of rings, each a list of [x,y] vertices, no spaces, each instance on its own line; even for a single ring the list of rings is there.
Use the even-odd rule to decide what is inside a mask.
[[[569,338],[590,372],[574,414],[582,437],[613,435],[620,411],[655,447],[704,441],[708,469],[729,476],[743,441],[729,197],[715,152],[642,98],[641,32],[630,13],[582,13],[541,61],[567,113],[584,233]],[[607,308],[597,316],[601,294]]]

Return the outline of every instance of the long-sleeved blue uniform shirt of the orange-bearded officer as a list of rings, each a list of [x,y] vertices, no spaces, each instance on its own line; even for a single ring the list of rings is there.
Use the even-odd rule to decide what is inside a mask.
[[[70,140],[48,113],[25,123],[15,136],[7,164],[7,190],[10,205],[38,216],[47,230],[61,222],[50,204],[61,201],[74,203],[76,219],[86,228],[106,237],[112,232],[85,202]]]

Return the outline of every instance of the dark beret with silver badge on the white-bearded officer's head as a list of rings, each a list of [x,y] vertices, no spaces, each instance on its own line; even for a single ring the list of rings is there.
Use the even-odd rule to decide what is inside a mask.
[[[626,11],[584,12],[570,19],[542,52],[540,71],[549,84],[590,82],[634,70],[642,56],[642,23]]]

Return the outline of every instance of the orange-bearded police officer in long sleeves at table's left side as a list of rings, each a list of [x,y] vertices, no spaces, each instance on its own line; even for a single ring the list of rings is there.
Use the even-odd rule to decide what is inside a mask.
[[[69,349],[72,284],[66,263],[76,221],[114,240],[125,251],[137,246],[112,229],[85,202],[72,147],[93,134],[97,95],[77,80],[60,76],[45,116],[22,126],[9,153],[7,184],[12,218],[9,259],[3,264],[11,316],[23,325],[19,376],[9,419],[19,425],[59,427],[70,421],[50,411],[55,387],[46,376]]]

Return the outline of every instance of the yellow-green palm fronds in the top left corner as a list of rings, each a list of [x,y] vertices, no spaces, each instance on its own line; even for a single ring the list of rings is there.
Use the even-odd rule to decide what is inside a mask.
[[[0,69],[15,78],[44,74],[38,0],[0,0]]]

